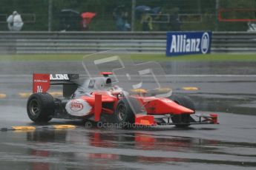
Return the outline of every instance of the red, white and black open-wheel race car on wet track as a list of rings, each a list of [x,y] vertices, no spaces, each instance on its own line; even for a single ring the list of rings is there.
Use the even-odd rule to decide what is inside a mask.
[[[168,98],[148,96],[145,89],[126,92],[111,84],[111,72],[95,78],[79,78],[78,74],[33,74],[33,94],[27,100],[27,115],[35,123],[52,118],[79,118],[128,125],[217,124],[217,115],[195,114],[191,98],[171,95]],[[63,95],[53,98],[50,86],[62,85]]]

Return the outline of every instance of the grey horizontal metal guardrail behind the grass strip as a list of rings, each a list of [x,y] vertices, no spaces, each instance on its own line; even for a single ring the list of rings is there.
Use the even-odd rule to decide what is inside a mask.
[[[165,53],[164,32],[0,32],[0,53],[91,53],[114,48]],[[214,32],[211,52],[256,52],[256,33]]]

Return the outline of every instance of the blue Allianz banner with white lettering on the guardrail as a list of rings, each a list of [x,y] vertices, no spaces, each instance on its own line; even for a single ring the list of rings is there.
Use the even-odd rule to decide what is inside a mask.
[[[166,56],[211,52],[211,32],[168,32]]]

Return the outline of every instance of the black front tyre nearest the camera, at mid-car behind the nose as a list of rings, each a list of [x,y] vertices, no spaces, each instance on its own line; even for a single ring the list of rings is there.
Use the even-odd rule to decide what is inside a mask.
[[[141,108],[138,104],[138,101],[134,98],[122,98],[118,101],[114,112],[114,118],[116,120],[116,123],[122,124],[124,128],[132,126],[135,121],[135,115],[133,110],[131,109],[130,104],[128,103],[128,100],[133,105],[135,111],[140,112]]]

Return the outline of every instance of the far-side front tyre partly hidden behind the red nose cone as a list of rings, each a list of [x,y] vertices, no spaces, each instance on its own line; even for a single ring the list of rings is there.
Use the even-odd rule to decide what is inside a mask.
[[[184,106],[188,109],[195,111],[194,102],[191,100],[191,98],[189,98],[186,95],[171,95],[169,99],[171,99],[171,101],[174,101],[177,104],[180,104],[181,106]],[[191,117],[190,117],[190,114],[174,115],[173,117],[171,117],[171,120],[173,123],[177,123],[175,124],[175,126],[180,128],[185,128],[190,126],[189,123],[190,123]]]

